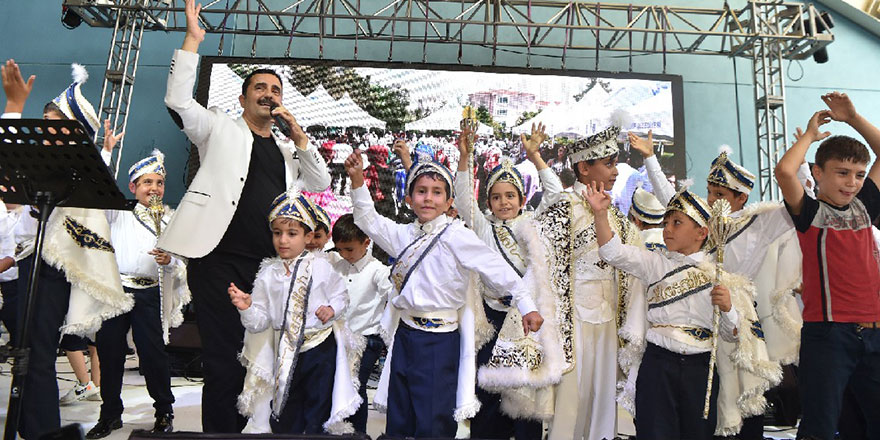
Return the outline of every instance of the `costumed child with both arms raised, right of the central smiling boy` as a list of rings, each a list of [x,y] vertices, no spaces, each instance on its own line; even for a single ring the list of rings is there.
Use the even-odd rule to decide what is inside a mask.
[[[480,366],[477,394],[482,407],[471,420],[474,438],[517,440],[543,437],[541,421],[552,418],[552,385],[562,375],[562,345],[552,317],[556,304],[550,289],[547,252],[541,243],[531,213],[524,213],[525,186],[520,172],[510,161],[503,161],[489,173],[486,199],[490,215],[477,211],[473,173],[468,171],[467,145],[469,132],[459,139],[461,157],[455,178],[455,203],[458,213],[486,245],[497,251],[504,261],[523,278],[532,294],[538,312],[551,317],[539,333],[523,334],[522,318],[509,298],[500,301],[483,295],[489,322],[498,333],[477,354]],[[532,127],[531,136],[522,135],[526,157],[535,164],[544,186],[544,196],[537,212],[561,198],[562,184],[556,173],[541,159],[539,148],[547,138],[543,126]],[[481,285],[485,289],[485,286]],[[503,414],[502,414],[503,413]],[[515,420],[511,420],[515,419]]]

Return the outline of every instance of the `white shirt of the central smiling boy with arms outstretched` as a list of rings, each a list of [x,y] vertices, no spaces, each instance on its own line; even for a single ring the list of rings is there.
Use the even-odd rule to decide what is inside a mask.
[[[521,314],[537,311],[522,279],[464,223],[441,214],[425,224],[402,225],[376,212],[366,186],[352,190],[351,196],[355,224],[393,256],[423,234],[439,234],[452,222],[437,244],[422,255],[402,291],[391,299],[394,307],[419,312],[458,310],[464,306],[468,271],[473,271],[494,293],[512,296]]]

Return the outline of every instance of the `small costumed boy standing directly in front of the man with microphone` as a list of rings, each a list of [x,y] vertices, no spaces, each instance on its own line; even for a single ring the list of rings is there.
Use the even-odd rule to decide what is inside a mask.
[[[274,228],[273,222],[276,221],[298,222],[306,235],[307,243],[316,227],[315,220],[310,215],[309,203],[298,188],[290,188],[272,203],[269,224]],[[273,235],[275,234],[276,231],[273,230]],[[273,238],[273,243],[275,241]],[[276,250],[279,250],[279,245],[276,245]],[[252,312],[242,312],[242,323],[248,329],[240,356],[247,373],[244,389],[238,397],[239,412],[248,417],[244,432],[287,431],[281,427],[289,420],[287,412],[283,412],[285,406],[299,405],[303,406],[300,408],[303,413],[301,418],[305,420],[304,427],[299,426],[299,422],[294,422],[297,425],[296,433],[320,433],[320,428],[330,434],[351,433],[354,432],[354,427],[345,419],[354,414],[361,404],[357,371],[364,339],[354,335],[342,319],[348,307],[348,293],[342,277],[333,270],[326,258],[316,252],[308,252],[305,247],[298,251],[300,253],[291,258],[279,250],[278,257],[264,260],[254,281],[254,304],[258,300],[263,302],[260,297],[269,298],[269,304],[281,306],[278,310],[268,310],[269,316],[283,315],[279,317],[283,322],[270,319],[272,322],[269,322],[268,328],[254,332],[249,327],[253,320],[247,317],[249,324],[245,317]],[[233,293],[240,294],[233,292],[233,288],[234,286],[230,286],[230,297],[235,302]],[[311,304],[321,300],[328,302]],[[283,304],[278,301],[283,301]],[[241,309],[238,304],[236,306]],[[321,312],[325,308],[333,311],[330,318],[332,322],[324,322]],[[312,310],[315,311],[311,312]],[[329,339],[333,341],[328,341]],[[334,342],[335,345],[335,362],[331,361],[335,363],[333,371],[324,371],[323,374],[321,371],[310,371],[306,373],[309,375],[308,380],[298,379],[301,374],[297,375],[296,369],[305,365],[298,365],[297,361],[305,362],[303,357],[309,356],[313,349],[327,351],[322,348],[327,342]],[[314,365],[309,368],[315,370]],[[318,382],[326,384],[328,378],[316,377],[324,375],[332,376],[332,385],[327,389],[323,389]],[[295,380],[299,382],[296,387],[293,386]],[[302,392],[308,388],[312,390]],[[303,401],[292,401],[294,395]],[[324,407],[329,410],[329,414],[317,415],[318,411],[306,406]],[[328,418],[312,420],[318,416]]]

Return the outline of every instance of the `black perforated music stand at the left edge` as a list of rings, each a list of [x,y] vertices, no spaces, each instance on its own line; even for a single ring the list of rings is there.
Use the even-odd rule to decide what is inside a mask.
[[[131,210],[137,201],[125,199],[76,120],[0,119],[0,185],[5,202],[33,205],[39,210],[24,321],[11,350],[14,363],[4,439],[13,440],[28,369],[30,321],[49,215],[56,206]]]

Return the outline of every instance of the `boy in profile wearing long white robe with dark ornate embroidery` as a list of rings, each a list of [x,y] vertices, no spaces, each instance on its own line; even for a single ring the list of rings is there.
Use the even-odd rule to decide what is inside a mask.
[[[602,440],[617,434],[618,326],[630,291],[642,286],[599,258],[587,185],[611,188],[617,178],[618,136],[611,126],[570,149],[577,181],[571,193],[536,216],[547,248],[563,348],[563,375],[555,387],[550,440]],[[607,211],[614,233],[641,246],[639,231],[617,208]]]

